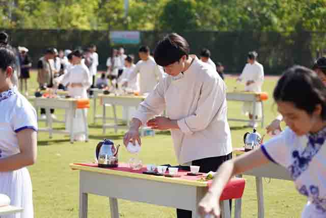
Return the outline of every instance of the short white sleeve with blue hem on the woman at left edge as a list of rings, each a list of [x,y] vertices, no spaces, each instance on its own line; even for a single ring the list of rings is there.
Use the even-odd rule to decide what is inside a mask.
[[[16,133],[24,129],[37,131],[37,115],[34,107],[28,101],[22,102],[22,105],[16,108],[15,115],[12,119],[13,130]]]

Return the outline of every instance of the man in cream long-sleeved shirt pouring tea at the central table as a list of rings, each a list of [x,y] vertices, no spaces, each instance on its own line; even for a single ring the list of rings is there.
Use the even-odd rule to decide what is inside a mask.
[[[212,67],[189,55],[187,41],[176,33],[158,42],[154,58],[168,76],[140,104],[124,144],[141,143],[139,128],[145,124],[171,130],[180,164],[198,165],[202,173],[215,172],[232,158],[224,81]],[[165,109],[167,117],[153,118]],[[177,217],[192,217],[192,211],[177,209]]]

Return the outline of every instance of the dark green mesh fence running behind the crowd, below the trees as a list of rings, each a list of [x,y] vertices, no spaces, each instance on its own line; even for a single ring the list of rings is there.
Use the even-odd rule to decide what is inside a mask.
[[[99,54],[99,69],[105,69],[106,59],[113,47],[123,46],[127,54],[134,54],[138,59],[139,45],[113,45],[108,31],[84,30],[31,30],[9,29],[10,43],[13,46],[25,46],[36,66],[37,60],[47,47],[58,50],[96,44]],[[263,64],[265,74],[281,74],[293,65],[310,67],[313,60],[326,48],[326,33],[318,32],[182,32],[191,46],[191,53],[199,55],[203,47],[212,54],[212,60],[222,62],[226,72],[240,72],[246,64],[249,51],[258,52],[258,61]],[[141,44],[154,49],[156,42],[165,36],[164,32],[141,32]]]

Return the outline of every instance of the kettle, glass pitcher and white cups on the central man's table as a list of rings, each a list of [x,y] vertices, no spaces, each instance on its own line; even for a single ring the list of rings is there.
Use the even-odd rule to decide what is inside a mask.
[[[112,168],[118,167],[119,158],[118,152],[119,147],[115,146],[112,140],[104,139],[100,141],[95,149],[95,162],[98,167],[103,168]],[[142,161],[139,159],[138,154],[141,151],[141,147],[138,142],[132,144],[129,142],[126,146],[126,149],[133,154],[133,157],[129,160],[129,167],[134,171],[139,171],[143,167]],[[199,173],[199,166],[190,166],[191,172],[187,173],[188,176],[199,176],[202,175]],[[178,167],[171,167],[167,165],[156,166],[154,164],[146,165],[147,171],[144,171],[143,174],[154,175],[154,176],[166,176],[166,177],[180,177],[178,175]],[[167,173],[168,170],[168,173]]]

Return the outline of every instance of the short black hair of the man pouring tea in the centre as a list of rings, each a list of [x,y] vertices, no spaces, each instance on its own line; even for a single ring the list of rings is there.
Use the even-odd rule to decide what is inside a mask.
[[[168,66],[180,60],[182,56],[189,57],[188,42],[177,33],[170,33],[159,41],[155,47],[154,59],[160,66]]]

